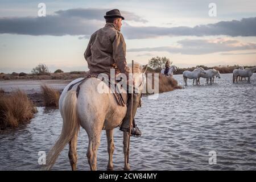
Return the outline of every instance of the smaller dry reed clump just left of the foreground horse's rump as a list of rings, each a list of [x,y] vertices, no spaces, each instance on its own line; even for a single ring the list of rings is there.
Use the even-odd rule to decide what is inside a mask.
[[[59,98],[60,93],[59,91],[47,86],[41,85],[41,90],[43,94],[43,101],[45,106],[59,106]]]

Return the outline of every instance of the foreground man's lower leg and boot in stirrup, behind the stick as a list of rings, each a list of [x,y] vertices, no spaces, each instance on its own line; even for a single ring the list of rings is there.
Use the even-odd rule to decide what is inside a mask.
[[[133,120],[133,123],[131,125],[131,135],[135,136],[135,137],[140,137],[141,136],[141,131],[139,131],[137,125],[135,125],[135,114],[137,111],[137,107],[139,106],[141,102],[141,94],[133,94],[133,111],[132,114],[130,114],[130,110],[131,110],[131,94],[129,94],[129,98],[128,98],[128,102],[127,102],[127,112],[125,115],[125,118],[123,118],[123,122],[122,125],[120,126],[120,130],[121,131],[126,131],[129,132],[129,128],[130,128],[130,119]]]

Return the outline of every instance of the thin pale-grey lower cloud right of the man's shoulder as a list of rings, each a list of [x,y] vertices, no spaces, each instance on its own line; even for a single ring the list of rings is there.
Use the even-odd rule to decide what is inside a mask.
[[[215,52],[228,52],[256,49],[256,43],[242,43],[233,39],[184,39],[177,41],[178,46],[164,46],[153,48],[134,48],[128,49],[128,52],[151,52],[165,51],[170,53],[181,53],[183,55],[204,55]]]

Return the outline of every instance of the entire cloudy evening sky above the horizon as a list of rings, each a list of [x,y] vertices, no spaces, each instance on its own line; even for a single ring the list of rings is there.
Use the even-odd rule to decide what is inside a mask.
[[[39,3],[46,16],[38,16]],[[30,73],[38,64],[87,71],[90,35],[112,9],[125,16],[127,63],[166,56],[180,68],[256,65],[255,7],[255,0],[0,0],[0,72]]]

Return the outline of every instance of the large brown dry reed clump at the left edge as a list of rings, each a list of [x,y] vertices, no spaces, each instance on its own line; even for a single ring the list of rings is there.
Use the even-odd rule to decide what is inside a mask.
[[[36,113],[36,109],[27,94],[16,90],[6,95],[0,94],[0,127],[18,127],[28,122]]]

